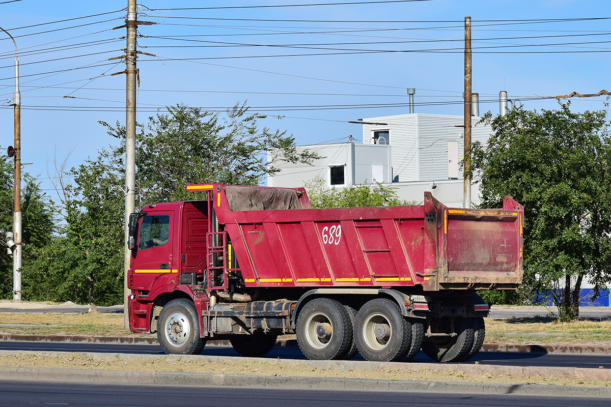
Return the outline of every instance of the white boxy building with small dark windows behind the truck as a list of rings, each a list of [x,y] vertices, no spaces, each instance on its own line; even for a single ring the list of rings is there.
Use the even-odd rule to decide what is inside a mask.
[[[486,143],[492,129],[477,124],[479,120],[472,118],[471,140]],[[281,163],[268,185],[301,187],[316,176],[338,187],[378,181],[395,188],[404,200],[421,202],[430,191],[448,206],[463,206],[463,116],[409,113],[363,122],[362,144],[299,146],[324,158],[313,166]],[[479,201],[474,185],[472,203]]]

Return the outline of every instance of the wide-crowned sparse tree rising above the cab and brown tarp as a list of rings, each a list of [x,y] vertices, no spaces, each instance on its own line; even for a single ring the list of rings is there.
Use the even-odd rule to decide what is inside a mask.
[[[288,162],[311,162],[318,158],[309,151],[299,152],[295,138],[285,131],[260,127],[265,115],[249,113],[242,104],[219,113],[202,112],[184,104],[167,108],[167,113],[149,117],[136,136],[136,193],[142,204],[194,199],[186,184],[258,185],[265,176],[279,171],[276,161],[266,160],[268,150],[277,149]],[[120,139],[112,148],[122,173],[125,154],[125,127],[113,128],[101,122],[108,134]]]

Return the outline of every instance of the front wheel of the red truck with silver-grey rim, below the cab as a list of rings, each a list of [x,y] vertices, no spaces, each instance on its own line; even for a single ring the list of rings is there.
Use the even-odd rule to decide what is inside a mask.
[[[180,298],[167,303],[157,326],[159,345],[167,355],[199,355],[206,345],[199,337],[199,318],[191,301]]]

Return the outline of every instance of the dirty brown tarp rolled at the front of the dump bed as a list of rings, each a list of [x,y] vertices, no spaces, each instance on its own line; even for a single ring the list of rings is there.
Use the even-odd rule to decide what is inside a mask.
[[[302,209],[297,191],[282,188],[225,187],[231,211]]]

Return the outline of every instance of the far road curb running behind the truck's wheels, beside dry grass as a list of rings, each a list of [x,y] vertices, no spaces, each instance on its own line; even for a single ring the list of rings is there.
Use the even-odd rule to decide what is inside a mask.
[[[0,340],[31,340],[35,342],[88,342],[92,344],[156,345],[157,337],[132,336],[70,336],[0,334]],[[296,339],[279,339],[276,345],[297,347]],[[208,340],[206,346],[231,346],[229,340]],[[484,344],[484,352],[557,353],[563,355],[611,355],[611,346],[598,345],[513,345]]]

